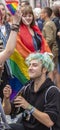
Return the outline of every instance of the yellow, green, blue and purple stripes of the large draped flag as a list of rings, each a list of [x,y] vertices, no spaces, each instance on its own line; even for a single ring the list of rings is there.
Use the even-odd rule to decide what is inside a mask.
[[[10,57],[10,67],[13,74],[13,78],[10,80],[10,85],[12,86],[11,99],[16,96],[22,86],[29,80],[28,67],[25,64],[25,59],[19,53],[19,49],[15,49]]]

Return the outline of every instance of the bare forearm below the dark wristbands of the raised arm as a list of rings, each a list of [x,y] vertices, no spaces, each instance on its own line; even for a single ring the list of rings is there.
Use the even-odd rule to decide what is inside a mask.
[[[11,31],[5,50],[0,52],[0,64],[4,62],[6,59],[8,59],[9,56],[13,53],[14,48],[16,46],[16,38],[17,32]]]

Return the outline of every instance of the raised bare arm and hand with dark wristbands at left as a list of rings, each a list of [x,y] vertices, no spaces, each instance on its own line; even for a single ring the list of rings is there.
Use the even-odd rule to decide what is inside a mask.
[[[9,39],[6,44],[6,48],[0,53],[0,64],[10,57],[16,46],[17,32],[19,29],[19,23],[21,20],[21,12],[17,11],[13,17],[12,30],[10,32]]]

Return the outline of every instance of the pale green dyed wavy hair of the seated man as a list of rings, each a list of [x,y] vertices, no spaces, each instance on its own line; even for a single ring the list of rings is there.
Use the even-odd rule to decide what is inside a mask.
[[[27,58],[26,58],[26,64],[29,66],[31,60],[37,60],[42,61],[42,66],[47,68],[47,71],[53,71],[54,70],[54,63],[52,61],[51,56],[49,53],[31,53]]]

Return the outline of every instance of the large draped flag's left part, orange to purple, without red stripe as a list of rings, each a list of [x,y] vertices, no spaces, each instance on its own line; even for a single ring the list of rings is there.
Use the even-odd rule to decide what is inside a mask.
[[[9,84],[12,87],[11,100],[14,99],[22,86],[30,79],[28,75],[28,67],[25,63],[25,58],[30,52],[31,51],[22,43],[20,33],[18,33],[17,45],[14,53],[10,57],[10,68],[13,75],[13,78],[9,80]]]

